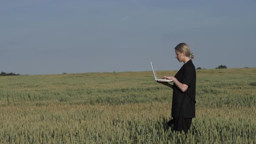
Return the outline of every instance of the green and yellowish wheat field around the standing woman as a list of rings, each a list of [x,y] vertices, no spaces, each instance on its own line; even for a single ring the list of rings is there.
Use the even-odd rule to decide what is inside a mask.
[[[0,76],[0,144],[256,144],[256,68],[197,70],[196,100],[185,135],[153,72]]]

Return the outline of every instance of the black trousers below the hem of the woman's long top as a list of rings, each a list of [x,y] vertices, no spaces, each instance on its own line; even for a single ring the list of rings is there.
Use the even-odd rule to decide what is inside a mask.
[[[190,129],[192,118],[173,118],[174,122],[174,131],[184,131],[187,134],[187,131]]]

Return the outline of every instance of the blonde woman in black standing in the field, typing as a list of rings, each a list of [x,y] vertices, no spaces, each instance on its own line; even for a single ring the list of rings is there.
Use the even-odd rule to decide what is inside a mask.
[[[174,84],[159,82],[173,88],[171,117],[173,120],[168,124],[174,124],[174,131],[187,131],[190,129],[192,118],[195,118],[196,103],[196,69],[191,59],[190,48],[186,43],[180,43],[175,47],[176,56],[179,62],[184,65],[175,76],[163,76],[162,79],[171,79]],[[191,56],[191,59],[190,59]]]

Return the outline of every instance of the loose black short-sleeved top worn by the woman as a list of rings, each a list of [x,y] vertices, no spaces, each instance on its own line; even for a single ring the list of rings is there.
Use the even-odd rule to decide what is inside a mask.
[[[178,118],[179,113],[184,118],[195,118],[196,116],[196,69],[190,59],[174,76],[182,84],[188,85],[185,92],[182,92],[175,84],[173,86],[171,116]],[[182,99],[184,99],[181,108]],[[181,112],[180,112],[181,111]]]

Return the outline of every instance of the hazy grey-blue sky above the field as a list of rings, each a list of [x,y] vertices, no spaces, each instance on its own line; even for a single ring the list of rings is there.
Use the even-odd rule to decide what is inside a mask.
[[[0,71],[20,74],[256,67],[254,0],[1,0]]]

